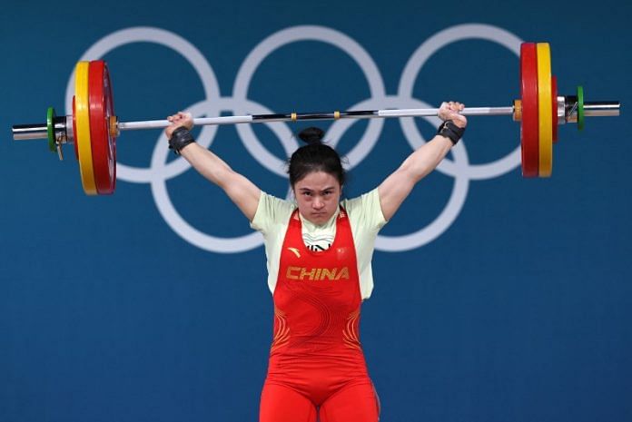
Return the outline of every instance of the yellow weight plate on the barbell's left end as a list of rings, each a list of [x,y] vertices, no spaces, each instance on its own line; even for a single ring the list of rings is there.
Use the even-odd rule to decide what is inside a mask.
[[[76,118],[77,150],[79,152],[79,172],[84,192],[96,195],[92,143],[90,142],[90,97],[88,96],[89,62],[79,62],[74,70],[74,114]]]

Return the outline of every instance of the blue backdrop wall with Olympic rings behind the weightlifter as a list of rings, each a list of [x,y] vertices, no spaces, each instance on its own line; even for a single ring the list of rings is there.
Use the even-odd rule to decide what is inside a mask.
[[[111,197],[84,196],[71,149],[58,162],[44,141],[12,141],[11,124],[64,113],[76,61],[108,61],[122,121],[505,106],[519,40],[551,44],[560,93],[582,84],[622,115],[561,127],[549,180],[520,177],[517,123],[470,119],[378,242],[361,339],[381,419],[632,420],[631,15],[609,0],[3,5],[0,421],[258,415],[272,300],[261,238],[222,192],[160,131],[123,133]],[[322,124],[349,157],[348,196],[434,131],[375,122]],[[283,196],[304,126],[200,141]]]

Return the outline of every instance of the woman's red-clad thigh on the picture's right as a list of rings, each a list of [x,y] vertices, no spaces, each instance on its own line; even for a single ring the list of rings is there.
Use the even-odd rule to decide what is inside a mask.
[[[369,382],[342,388],[321,406],[321,422],[377,422],[380,399]]]

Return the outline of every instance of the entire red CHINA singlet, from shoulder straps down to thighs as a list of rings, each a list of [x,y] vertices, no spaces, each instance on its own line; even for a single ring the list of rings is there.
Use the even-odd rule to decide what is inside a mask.
[[[274,289],[274,338],[260,422],[376,422],[380,405],[360,347],[360,280],[341,209],[330,249],[308,250],[291,215]],[[318,408],[318,410],[317,410]]]

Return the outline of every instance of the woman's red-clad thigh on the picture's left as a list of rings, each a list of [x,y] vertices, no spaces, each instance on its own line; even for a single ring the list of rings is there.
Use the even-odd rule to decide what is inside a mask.
[[[259,422],[315,422],[316,407],[289,387],[265,383]]]

